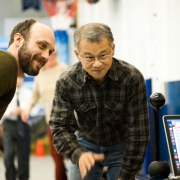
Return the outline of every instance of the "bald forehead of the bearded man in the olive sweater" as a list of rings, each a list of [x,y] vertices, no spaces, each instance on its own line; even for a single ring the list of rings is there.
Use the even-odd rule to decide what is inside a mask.
[[[55,37],[53,31],[46,25],[35,23],[30,30],[30,40],[34,42],[46,41],[54,49]]]

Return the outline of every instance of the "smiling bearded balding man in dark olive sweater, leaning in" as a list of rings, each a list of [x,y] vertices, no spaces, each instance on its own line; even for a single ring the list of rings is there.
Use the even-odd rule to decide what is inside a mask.
[[[38,75],[54,46],[52,29],[34,19],[14,27],[7,51],[0,50],[0,119],[14,96],[17,77],[23,73]]]

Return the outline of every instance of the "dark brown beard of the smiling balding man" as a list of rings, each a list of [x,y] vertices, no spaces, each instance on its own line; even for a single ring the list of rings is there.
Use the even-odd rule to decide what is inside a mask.
[[[28,51],[26,43],[24,43],[18,51],[18,58],[19,58],[19,66],[22,69],[22,71],[30,76],[36,76],[39,74],[39,70],[41,68],[33,68],[32,62],[33,59],[36,58],[36,55],[32,57],[31,53]]]

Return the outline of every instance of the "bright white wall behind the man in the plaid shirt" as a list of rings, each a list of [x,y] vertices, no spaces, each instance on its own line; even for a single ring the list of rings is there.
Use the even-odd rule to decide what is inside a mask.
[[[179,0],[79,0],[78,26],[109,25],[115,37],[115,57],[153,78],[153,93],[164,94],[164,82],[179,80]]]

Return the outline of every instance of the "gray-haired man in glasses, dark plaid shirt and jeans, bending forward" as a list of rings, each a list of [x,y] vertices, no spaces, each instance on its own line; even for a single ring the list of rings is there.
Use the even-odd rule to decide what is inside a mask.
[[[146,87],[134,66],[114,58],[114,38],[104,24],[74,33],[79,60],[56,83],[50,129],[54,146],[70,159],[70,180],[132,180],[142,167],[149,124]]]

